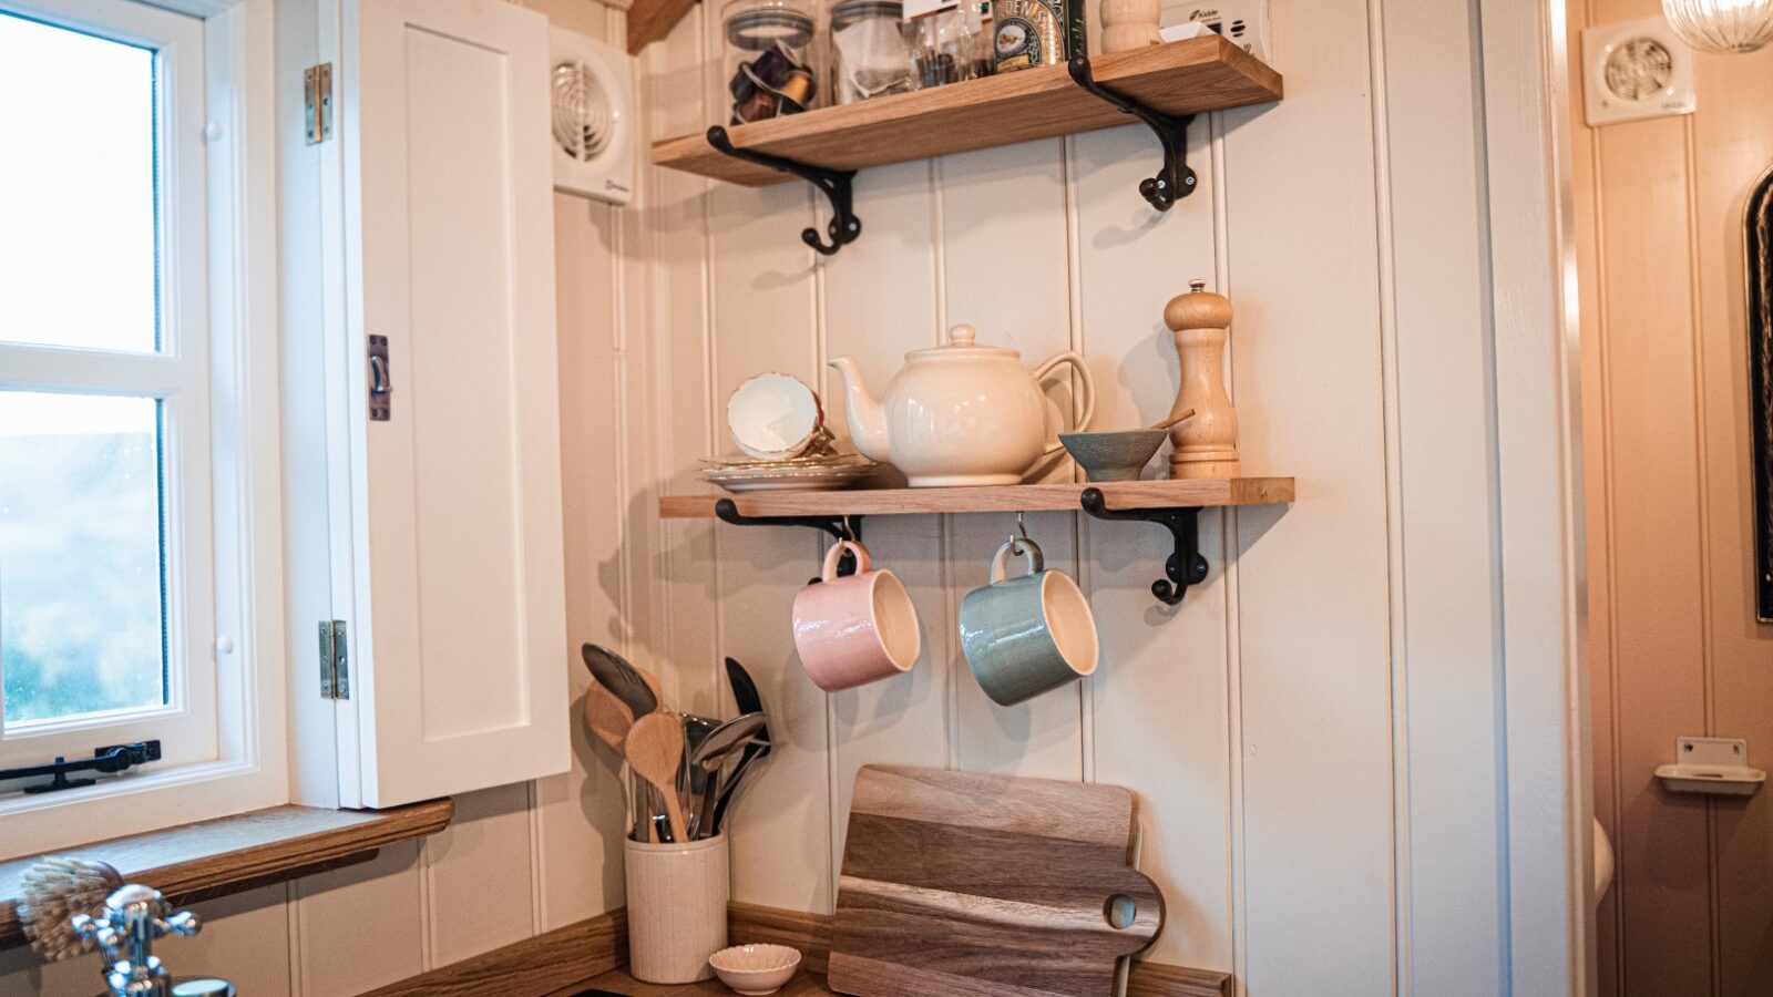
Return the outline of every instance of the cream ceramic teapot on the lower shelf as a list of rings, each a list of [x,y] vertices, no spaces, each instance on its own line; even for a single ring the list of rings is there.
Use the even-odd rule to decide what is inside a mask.
[[[881,399],[863,387],[855,360],[832,360],[844,381],[856,449],[897,467],[911,488],[1021,484],[1037,459],[1058,452],[1041,381],[1060,364],[1078,373],[1078,428],[1096,413],[1096,385],[1083,357],[1067,349],[1030,373],[1021,353],[977,346],[973,335],[973,326],[957,325],[947,346],[906,353]]]

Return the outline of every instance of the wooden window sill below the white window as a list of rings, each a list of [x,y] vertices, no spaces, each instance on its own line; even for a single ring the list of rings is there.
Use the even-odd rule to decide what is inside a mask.
[[[110,862],[126,882],[191,903],[369,859],[388,844],[433,836],[454,816],[449,798],[387,811],[282,805],[57,853]],[[37,859],[0,862],[0,949],[25,942],[14,901],[20,875]]]

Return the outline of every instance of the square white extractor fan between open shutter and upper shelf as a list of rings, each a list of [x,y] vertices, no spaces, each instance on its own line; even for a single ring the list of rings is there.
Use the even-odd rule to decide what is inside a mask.
[[[629,55],[564,28],[548,28],[548,48],[555,190],[628,204],[635,195]]]

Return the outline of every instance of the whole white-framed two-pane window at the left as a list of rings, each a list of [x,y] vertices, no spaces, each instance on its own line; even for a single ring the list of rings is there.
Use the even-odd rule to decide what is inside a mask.
[[[90,789],[0,782],[0,857],[57,844],[18,814],[254,768],[252,330],[211,254],[243,158],[206,142],[239,122],[206,78],[232,16],[0,0],[0,768],[161,742]]]

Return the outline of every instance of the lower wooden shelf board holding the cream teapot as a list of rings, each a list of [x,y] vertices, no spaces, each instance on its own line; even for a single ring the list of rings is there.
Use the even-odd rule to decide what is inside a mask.
[[[1099,488],[1110,509],[1206,509],[1293,502],[1291,477],[1197,481],[1110,481],[1101,484],[1014,484],[1002,488],[876,488],[855,491],[754,491],[750,495],[665,495],[660,518],[715,518],[715,502],[732,498],[748,518],[906,516],[920,513],[1078,511],[1085,488]]]

